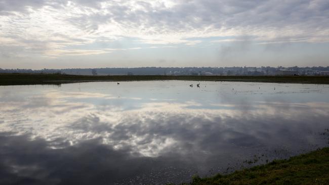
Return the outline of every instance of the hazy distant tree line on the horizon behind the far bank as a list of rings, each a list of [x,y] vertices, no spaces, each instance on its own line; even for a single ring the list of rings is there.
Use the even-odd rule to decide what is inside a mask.
[[[136,68],[71,68],[71,69],[1,69],[0,73],[46,73],[60,71],[62,74],[73,75],[239,75],[239,76],[271,76],[278,75],[280,70],[293,70],[299,75],[326,75],[327,67],[136,67]]]

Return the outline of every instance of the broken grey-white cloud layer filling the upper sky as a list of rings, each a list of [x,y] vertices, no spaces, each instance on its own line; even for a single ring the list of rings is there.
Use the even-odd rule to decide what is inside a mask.
[[[137,38],[134,42],[140,44],[185,46],[202,42],[191,37],[216,36],[233,37],[220,42],[249,36],[260,44],[329,41],[325,0],[2,0],[0,5],[2,45],[22,45],[26,52],[37,50],[48,57],[104,54],[103,49],[74,47],[122,37]]]

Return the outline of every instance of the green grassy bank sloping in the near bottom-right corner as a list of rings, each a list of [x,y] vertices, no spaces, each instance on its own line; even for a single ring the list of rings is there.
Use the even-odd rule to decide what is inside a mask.
[[[329,148],[188,184],[329,184]]]

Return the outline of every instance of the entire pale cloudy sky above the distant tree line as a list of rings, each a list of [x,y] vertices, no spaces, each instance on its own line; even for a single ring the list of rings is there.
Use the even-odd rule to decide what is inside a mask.
[[[327,0],[0,0],[0,68],[329,66]]]

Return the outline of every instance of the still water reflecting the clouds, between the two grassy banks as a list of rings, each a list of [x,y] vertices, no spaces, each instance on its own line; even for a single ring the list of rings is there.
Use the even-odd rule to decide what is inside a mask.
[[[196,83],[0,86],[0,184],[188,182],[328,146],[329,85]]]

